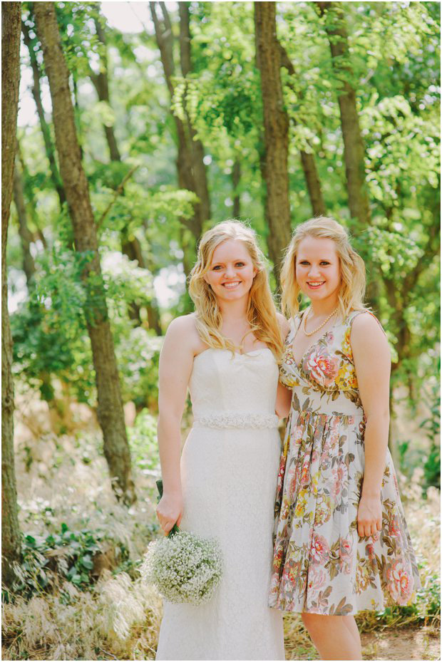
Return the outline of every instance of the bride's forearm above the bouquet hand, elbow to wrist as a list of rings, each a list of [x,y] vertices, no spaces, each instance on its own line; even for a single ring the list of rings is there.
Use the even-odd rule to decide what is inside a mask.
[[[159,416],[158,446],[160,448],[161,473],[163,476],[163,493],[165,495],[180,495],[181,435],[178,417]]]

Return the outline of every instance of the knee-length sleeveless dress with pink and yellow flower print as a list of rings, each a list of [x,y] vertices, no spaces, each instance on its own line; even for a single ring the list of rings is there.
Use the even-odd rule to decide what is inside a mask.
[[[336,321],[299,366],[292,343],[302,313],[291,321],[286,339],[280,380],[293,395],[279,466],[269,597],[269,605],[283,611],[382,611],[391,601],[408,604],[420,588],[388,450],[382,530],[361,538],[356,528],[365,418],[350,332],[362,312]]]

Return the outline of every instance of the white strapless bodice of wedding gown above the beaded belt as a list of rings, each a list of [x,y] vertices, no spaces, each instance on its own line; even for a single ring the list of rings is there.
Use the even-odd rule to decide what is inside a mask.
[[[278,366],[272,351],[209,348],[195,356],[189,381],[195,418],[215,413],[274,415]]]

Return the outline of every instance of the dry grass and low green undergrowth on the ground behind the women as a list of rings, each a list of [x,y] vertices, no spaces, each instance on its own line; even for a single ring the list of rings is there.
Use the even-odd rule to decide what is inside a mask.
[[[38,461],[29,461],[29,443],[17,450],[24,559],[4,592],[5,660],[155,659],[163,607],[138,572],[158,535],[150,415],[139,417],[130,444],[138,502],[129,509],[115,501],[98,434],[46,435],[34,449]],[[361,631],[438,626],[439,492],[422,496],[422,471],[401,484],[422,589],[416,604],[359,614]],[[287,658],[312,650],[299,615],[284,617],[284,631]]]

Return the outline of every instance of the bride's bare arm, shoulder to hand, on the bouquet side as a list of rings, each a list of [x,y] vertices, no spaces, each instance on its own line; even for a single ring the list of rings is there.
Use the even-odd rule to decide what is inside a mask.
[[[195,333],[195,323],[190,316],[175,319],[168,328],[160,354],[158,445],[163,497],[158,503],[157,516],[165,534],[175,522],[179,525],[183,516],[180,426],[192,372]]]

